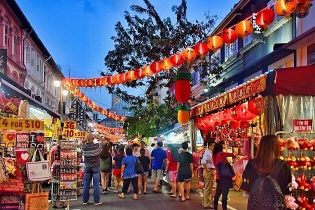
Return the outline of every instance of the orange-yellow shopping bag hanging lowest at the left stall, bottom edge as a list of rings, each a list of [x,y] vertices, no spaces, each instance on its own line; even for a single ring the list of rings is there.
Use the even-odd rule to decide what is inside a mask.
[[[34,192],[37,186],[37,192]],[[46,210],[48,209],[48,192],[43,192],[41,185],[36,181],[31,193],[25,195],[25,210]]]

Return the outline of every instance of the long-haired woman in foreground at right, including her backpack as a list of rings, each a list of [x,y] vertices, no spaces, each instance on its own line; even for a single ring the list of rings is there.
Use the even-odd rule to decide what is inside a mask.
[[[259,204],[268,206],[268,209],[284,209],[283,195],[291,193],[292,175],[287,163],[280,160],[279,156],[278,137],[263,136],[255,158],[248,161],[243,172],[244,181],[240,188],[249,194],[247,209],[257,209]],[[268,188],[264,185],[268,185]],[[281,193],[277,192],[277,188]]]

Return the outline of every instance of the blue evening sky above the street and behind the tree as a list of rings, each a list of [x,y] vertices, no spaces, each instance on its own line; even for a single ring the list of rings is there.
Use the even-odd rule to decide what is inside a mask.
[[[238,0],[187,0],[188,20],[204,20],[209,11],[225,17]],[[132,4],[143,5],[142,0],[16,0],[28,21],[44,43],[62,72],[70,77],[97,77],[98,70],[106,71],[104,57],[113,49],[110,39],[115,35],[114,25],[124,21],[124,11]],[[181,0],[150,0],[162,18],[175,18],[172,5]],[[221,19],[219,19],[221,20]],[[219,22],[217,22],[219,23]],[[144,89],[126,88],[129,94],[139,95]],[[87,96],[101,102],[103,108],[111,105],[111,96],[104,87],[87,88]],[[103,105],[105,104],[105,105]]]

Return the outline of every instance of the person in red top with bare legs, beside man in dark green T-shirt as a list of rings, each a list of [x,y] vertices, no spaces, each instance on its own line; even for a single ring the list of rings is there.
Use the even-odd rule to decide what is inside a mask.
[[[176,170],[177,170],[177,162],[176,157],[178,154],[177,148],[171,144],[167,144],[167,161],[165,171],[168,172],[169,176],[169,184],[171,186],[171,190],[169,192],[171,197],[176,197]]]

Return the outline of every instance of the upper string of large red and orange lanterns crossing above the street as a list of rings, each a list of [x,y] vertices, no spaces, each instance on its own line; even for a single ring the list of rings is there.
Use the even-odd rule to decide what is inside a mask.
[[[299,4],[309,5],[310,0],[298,0]],[[275,5],[274,10],[270,9],[272,5]],[[266,7],[260,9],[256,13],[256,24],[260,27],[266,28],[270,25],[274,19],[274,13],[280,16],[289,16],[297,6],[297,0],[276,0]],[[179,66],[184,61],[188,64],[200,56],[202,58],[209,50],[215,52],[225,43],[229,45],[236,41],[237,36],[246,37],[253,30],[253,25],[249,19],[252,15],[241,20],[237,24],[225,28],[217,34],[208,37],[205,41],[200,41],[193,46],[187,47],[181,52],[171,55],[168,58],[163,58],[152,62],[146,66],[129,70],[127,72],[118,73],[110,76],[103,76],[97,78],[63,78],[63,84],[70,84],[77,87],[96,87],[96,86],[108,86],[114,84],[125,83],[136,79],[142,79],[145,76],[151,76],[153,73],[158,73],[162,70],[167,71],[172,66]],[[232,29],[234,28],[234,29]]]

